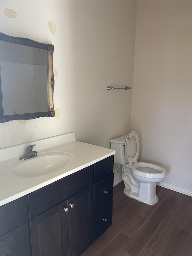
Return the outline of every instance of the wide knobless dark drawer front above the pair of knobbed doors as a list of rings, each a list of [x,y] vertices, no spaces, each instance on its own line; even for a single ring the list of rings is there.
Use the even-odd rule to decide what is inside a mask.
[[[29,218],[46,211],[92,183],[93,165],[32,192],[28,195]]]

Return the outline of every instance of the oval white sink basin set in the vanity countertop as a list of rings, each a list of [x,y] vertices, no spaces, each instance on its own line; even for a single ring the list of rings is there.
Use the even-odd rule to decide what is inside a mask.
[[[36,177],[57,172],[69,166],[74,156],[65,152],[38,153],[38,156],[26,160],[13,160],[6,167],[21,177]]]

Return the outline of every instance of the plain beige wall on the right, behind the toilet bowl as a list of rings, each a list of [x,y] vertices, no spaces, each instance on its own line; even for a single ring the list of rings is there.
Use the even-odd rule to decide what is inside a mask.
[[[192,2],[138,1],[131,130],[139,161],[192,190]]]

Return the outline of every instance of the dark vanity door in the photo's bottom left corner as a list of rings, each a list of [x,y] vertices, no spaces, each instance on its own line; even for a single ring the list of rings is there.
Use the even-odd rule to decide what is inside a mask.
[[[30,256],[28,223],[23,224],[0,239],[1,256]]]

